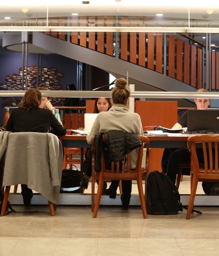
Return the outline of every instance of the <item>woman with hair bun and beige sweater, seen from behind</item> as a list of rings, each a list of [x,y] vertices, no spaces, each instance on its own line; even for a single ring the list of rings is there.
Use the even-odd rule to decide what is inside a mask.
[[[107,112],[100,112],[87,136],[88,144],[92,144],[95,135],[100,132],[109,132],[110,130],[123,130],[126,133],[143,135],[141,118],[139,114],[132,113],[128,109],[130,89],[124,78],[116,80],[115,87],[112,90],[112,107]],[[137,149],[138,150],[138,149]],[[131,168],[135,168],[137,161],[137,150],[131,154]],[[110,197],[116,198],[116,191],[119,180],[112,181],[110,186]],[[123,194],[121,200],[123,207],[128,207],[131,198],[131,180],[122,180]]]

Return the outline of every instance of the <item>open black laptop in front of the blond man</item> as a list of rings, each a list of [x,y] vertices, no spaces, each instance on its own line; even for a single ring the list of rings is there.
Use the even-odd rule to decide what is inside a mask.
[[[219,133],[219,110],[188,110],[187,132]]]

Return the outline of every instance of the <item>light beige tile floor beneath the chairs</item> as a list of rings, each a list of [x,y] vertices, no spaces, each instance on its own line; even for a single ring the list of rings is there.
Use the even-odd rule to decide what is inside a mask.
[[[185,178],[180,189],[186,192],[188,188]],[[90,206],[59,206],[55,217],[49,215],[48,206],[14,208],[17,213],[0,218],[1,256],[186,256],[219,252],[218,207],[197,207],[203,214],[193,214],[190,220],[185,219],[185,210],[143,219],[141,208],[136,206],[128,210],[102,206],[96,219]],[[27,210],[38,212],[24,212]]]

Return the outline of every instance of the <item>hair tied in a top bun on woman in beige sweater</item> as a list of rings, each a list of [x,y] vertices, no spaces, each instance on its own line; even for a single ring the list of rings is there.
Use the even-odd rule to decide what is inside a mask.
[[[114,104],[126,105],[128,98],[130,97],[130,89],[127,86],[127,82],[124,78],[116,80],[115,87],[112,89],[112,101]]]

